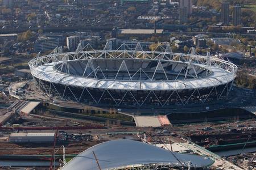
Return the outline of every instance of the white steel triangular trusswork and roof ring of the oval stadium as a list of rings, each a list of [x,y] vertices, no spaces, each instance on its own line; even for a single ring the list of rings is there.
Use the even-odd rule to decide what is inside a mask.
[[[93,59],[104,58],[123,59],[114,79],[106,78],[102,68],[93,65]],[[79,61],[83,59],[88,60],[88,62],[84,65],[82,76],[69,74],[71,69],[76,70],[76,68],[69,65],[69,61]],[[135,74],[130,74],[125,59],[150,59],[158,63],[152,76],[148,75],[141,67],[135,71]],[[180,69],[175,79],[168,79],[162,64],[166,61],[183,63],[183,67]],[[63,53],[62,48],[57,47],[47,56],[40,56],[40,53],[38,53],[29,62],[29,66],[34,78],[38,79],[38,81],[35,82],[38,83],[40,89],[46,91],[48,94],[55,91],[55,94],[59,95],[61,99],[64,98],[65,91],[68,90],[76,101],[80,101],[84,91],[86,91],[96,104],[99,104],[102,97],[105,94],[108,94],[112,97],[116,105],[120,105],[126,95],[129,95],[133,96],[135,104],[139,106],[142,106],[144,101],[146,101],[147,97],[150,95],[154,95],[161,106],[166,105],[168,100],[174,95],[177,96],[182,105],[188,104],[191,97],[195,94],[200,97],[201,103],[205,103],[208,96],[212,93],[216,94],[216,98],[219,100],[221,96],[228,96],[237,71],[237,66],[233,63],[217,57],[211,57],[209,53],[207,53],[207,56],[199,56],[196,53],[195,48],[191,48],[188,54],[173,53],[170,45],[167,44],[166,48],[159,45],[153,51],[146,51],[142,49],[141,44],[138,42],[133,50],[126,44],[122,44],[117,50],[112,50],[108,41],[104,50],[94,50],[90,44],[82,48],[81,44],[79,44],[76,52]],[[197,74],[196,66],[207,70],[207,75],[203,78],[200,77]],[[90,73],[85,74],[88,70],[90,70]],[[119,71],[127,71],[129,79],[119,80],[117,78]],[[157,71],[161,71],[165,75],[164,80],[154,80]],[[97,73],[100,73],[103,78],[98,78]],[[184,79],[177,79],[180,74],[184,75]],[[138,80],[134,80],[135,75],[139,75]],[[141,75],[147,76],[148,79],[142,81]],[[50,85],[45,86],[45,83],[43,83],[42,80],[49,82]],[[56,83],[65,86],[64,92],[59,92],[55,87]],[[70,88],[74,85],[83,88],[79,96],[75,95],[72,88]],[[224,88],[222,91],[217,92],[217,87],[220,85],[224,85]],[[88,88],[100,88],[104,89],[104,91],[100,98],[96,99],[94,95],[90,93]],[[113,90],[113,88],[126,90],[125,95],[123,95],[121,100],[116,100],[113,97],[112,92],[110,91]],[[200,95],[200,89],[203,88],[211,88],[208,95]],[[132,92],[133,90],[144,90],[148,92],[148,95],[144,100],[138,101]],[[172,90],[172,93],[168,96],[167,100],[163,101],[155,94],[155,91],[157,90]],[[179,94],[179,91],[181,90],[192,90],[192,93],[186,100],[184,100],[181,99],[182,97]]]

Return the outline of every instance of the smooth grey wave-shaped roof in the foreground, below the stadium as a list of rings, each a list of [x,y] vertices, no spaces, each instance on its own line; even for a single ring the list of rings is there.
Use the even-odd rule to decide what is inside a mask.
[[[193,167],[199,168],[208,167],[214,163],[212,159],[202,156],[178,154],[138,141],[116,140],[100,143],[88,148],[88,150],[77,155],[61,169],[99,169],[93,152],[102,170],[139,167],[148,164],[181,167],[181,163],[186,166],[189,161],[191,161]]]

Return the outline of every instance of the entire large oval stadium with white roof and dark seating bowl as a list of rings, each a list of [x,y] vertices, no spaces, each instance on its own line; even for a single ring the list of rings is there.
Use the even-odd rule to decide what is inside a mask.
[[[75,52],[56,48],[29,62],[36,86],[57,99],[97,106],[161,108],[228,97],[237,66],[221,58],[173,53],[170,45],[146,51],[137,44]]]

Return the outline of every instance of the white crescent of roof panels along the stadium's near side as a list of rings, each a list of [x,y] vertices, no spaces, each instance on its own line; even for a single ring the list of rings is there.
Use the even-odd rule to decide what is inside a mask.
[[[129,80],[108,80],[84,78],[82,76],[68,75],[60,73],[54,69],[55,63],[48,63],[46,65],[38,66],[34,70],[35,73],[40,74],[39,78],[47,82],[55,82],[67,84],[69,86],[80,86],[87,88],[102,88],[102,89],[119,89],[119,90],[184,90],[193,88],[206,88],[211,86],[218,86],[228,83],[234,79],[233,73],[229,73],[224,69],[218,67],[211,67],[212,74],[205,78],[198,79],[181,79],[168,80],[156,82],[134,82]],[[202,68],[205,65],[198,65]],[[33,74],[33,71],[31,71]],[[38,75],[39,75],[38,74]],[[36,76],[38,76],[36,75]]]

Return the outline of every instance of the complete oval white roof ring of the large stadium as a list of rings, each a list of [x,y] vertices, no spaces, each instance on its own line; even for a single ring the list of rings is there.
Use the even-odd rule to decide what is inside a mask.
[[[170,47],[169,47],[170,48]],[[168,49],[168,48],[167,48]],[[56,53],[48,56],[35,57],[29,62],[31,74],[38,79],[45,80],[51,83],[65,84],[68,86],[77,86],[82,88],[101,88],[112,90],[184,90],[196,88],[208,88],[213,86],[220,86],[232,82],[236,78],[237,66],[228,61],[219,58],[210,58],[205,56],[198,56],[195,54],[180,54],[155,51],[138,51],[138,50],[93,50],[93,51],[79,51],[71,53]],[[169,49],[170,51],[170,49]],[[69,59],[96,59],[96,58],[131,58],[136,59],[139,56],[147,59],[154,59],[158,61],[172,61],[183,62],[189,65],[199,66],[202,69],[211,70],[211,74],[202,78],[192,79],[177,79],[177,80],[163,80],[163,81],[132,81],[132,80],[112,80],[112,79],[97,79],[83,76],[69,75],[61,73],[55,69],[57,64],[69,62]],[[168,58],[168,56],[172,56]],[[138,59],[138,58],[137,58]]]

